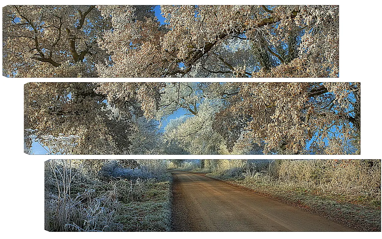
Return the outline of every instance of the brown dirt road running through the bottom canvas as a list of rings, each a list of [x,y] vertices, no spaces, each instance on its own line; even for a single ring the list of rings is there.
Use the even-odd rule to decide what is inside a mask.
[[[201,174],[171,173],[173,231],[353,231]]]

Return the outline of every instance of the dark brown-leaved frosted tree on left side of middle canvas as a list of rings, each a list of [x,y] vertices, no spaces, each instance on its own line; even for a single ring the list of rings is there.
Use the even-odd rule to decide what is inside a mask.
[[[35,140],[44,135],[79,136],[74,154],[154,150],[151,147],[155,129],[144,128],[150,122],[143,115],[149,114],[151,104],[155,103],[150,100],[150,93],[149,97],[142,93],[146,85],[125,84],[132,89],[131,96],[117,101],[113,98],[115,89],[110,86],[110,92],[102,93],[105,85],[99,83],[28,83],[24,88],[24,127],[33,130]],[[140,97],[145,99],[143,103]],[[142,145],[138,146],[139,143]],[[31,146],[30,140],[26,145]]]

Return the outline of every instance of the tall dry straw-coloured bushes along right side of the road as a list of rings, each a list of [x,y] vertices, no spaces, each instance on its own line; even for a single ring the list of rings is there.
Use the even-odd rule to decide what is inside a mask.
[[[285,189],[304,189],[343,200],[380,205],[380,160],[277,160],[266,169],[254,164],[244,171],[248,181]]]

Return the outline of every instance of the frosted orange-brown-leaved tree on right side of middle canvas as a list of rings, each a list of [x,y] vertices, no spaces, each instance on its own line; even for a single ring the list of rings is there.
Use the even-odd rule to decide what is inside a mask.
[[[216,116],[228,148],[244,139],[264,153],[308,153],[308,144],[318,154],[353,150],[349,140],[360,133],[359,83],[237,84],[240,90]]]

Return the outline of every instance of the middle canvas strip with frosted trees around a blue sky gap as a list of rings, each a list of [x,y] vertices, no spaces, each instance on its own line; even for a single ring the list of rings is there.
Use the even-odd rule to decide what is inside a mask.
[[[351,82],[32,82],[28,154],[359,154]]]

